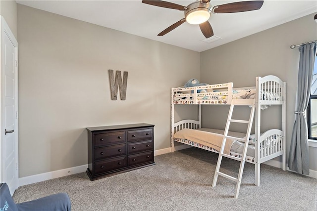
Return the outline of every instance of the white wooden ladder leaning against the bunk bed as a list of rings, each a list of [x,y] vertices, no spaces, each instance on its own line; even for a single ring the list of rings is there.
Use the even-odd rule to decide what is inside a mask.
[[[235,181],[237,184],[236,184],[236,188],[235,188],[234,198],[238,198],[238,195],[239,195],[241,178],[242,178],[244,163],[245,163],[247,149],[248,149],[248,144],[249,144],[249,137],[250,137],[253,117],[254,117],[254,113],[255,113],[255,108],[256,108],[255,99],[251,100],[251,102],[248,103],[248,104],[241,104],[241,103],[238,103],[238,102],[241,102],[241,101],[237,101],[237,103],[236,103],[235,100],[232,100],[232,102],[231,102],[229,115],[228,115],[228,119],[227,119],[227,124],[226,124],[225,130],[224,130],[222,144],[221,144],[219,157],[218,157],[215,173],[214,173],[214,176],[213,176],[213,182],[212,182],[212,187],[216,186],[218,175],[226,177],[228,179],[231,179],[231,180]],[[237,106],[237,105],[240,105],[240,106],[241,105],[249,105],[249,106],[251,106],[251,113],[250,113],[249,121],[248,120],[234,120],[234,119],[231,118],[232,117],[232,113],[233,113],[233,108],[234,108],[234,106]],[[245,138],[238,138],[238,137],[233,137],[233,136],[229,136],[228,135],[230,123],[232,123],[232,122],[248,124],[247,133],[246,133],[246,137]],[[223,153],[225,142],[226,142],[227,138],[245,142],[241,158],[234,157],[234,156],[227,155],[227,154]],[[227,157],[227,158],[230,158],[230,159],[233,159],[233,160],[236,160],[236,161],[240,161],[240,169],[239,169],[239,173],[238,173],[238,177],[237,178],[219,171],[220,170],[221,161],[222,161],[222,157]]]

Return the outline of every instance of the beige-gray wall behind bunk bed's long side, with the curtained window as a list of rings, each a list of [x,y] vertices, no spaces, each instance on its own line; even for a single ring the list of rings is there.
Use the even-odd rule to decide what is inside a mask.
[[[201,78],[205,79],[202,83],[234,82],[235,87],[254,86],[255,78],[265,75],[276,75],[287,83],[287,152],[295,118],[299,64],[298,48],[290,49],[290,45],[317,40],[314,15],[201,53]],[[225,107],[205,106],[203,127],[224,128],[227,111]],[[281,126],[278,120],[281,117],[280,108],[265,110],[262,117],[264,130]],[[310,169],[317,170],[317,148],[313,147],[310,147]]]

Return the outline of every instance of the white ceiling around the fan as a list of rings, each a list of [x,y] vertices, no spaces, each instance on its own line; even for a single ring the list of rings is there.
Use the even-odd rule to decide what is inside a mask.
[[[187,6],[194,0],[166,0]],[[211,0],[212,6],[242,0]],[[184,18],[184,12],[142,0],[16,0],[37,9],[97,24],[132,35],[204,51],[288,21],[317,13],[317,0],[264,0],[260,10],[211,14],[214,36],[207,42],[198,25],[184,23],[166,35],[161,31]],[[296,30],[296,29],[295,29]],[[216,39],[213,39],[216,38]]]

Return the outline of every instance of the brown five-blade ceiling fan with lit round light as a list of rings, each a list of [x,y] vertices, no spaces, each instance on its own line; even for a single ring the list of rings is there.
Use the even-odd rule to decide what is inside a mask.
[[[167,27],[158,36],[163,36],[172,31],[181,24],[188,22],[190,24],[199,24],[200,30],[206,38],[213,36],[213,30],[209,23],[209,18],[212,13],[233,13],[246,12],[260,9],[264,0],[250,0],[226,3],[222,5],[212,6],[211,0],[196,0],[187,6],[182,6],[176,3],[162,1],[162,0],[142,0],[142,3],[151,4],[154,6],[165,7],[170,9],[177,9],[184,11],[185,18],[177,21],[173,25]]]

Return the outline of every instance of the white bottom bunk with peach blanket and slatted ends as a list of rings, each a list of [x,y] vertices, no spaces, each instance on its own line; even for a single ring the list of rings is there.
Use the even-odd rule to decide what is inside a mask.
[[[188,144],[211,152],[219,153],[224,130],[200,128],[200,122],[195,120],[182,120],[172,127],[172,141]],[[234,137],[245,137],[245,133],[229,132]],[[284,134],[279,129],[270,129],[261,134],[259,141],[257,135],[252,134],[246,155],[246,162],[256,165],[256,178],[260,178],[260,164],[272,158],[283,156],[285,161]],[[173,147],[173,142],[172,142]],[[244,143],[238,140],[227,139],[224,153],[241,158]],[[283,164],[283,170],[285,165]],[[258,182],[256,181],[256,185]]]

